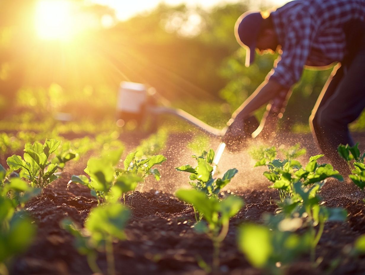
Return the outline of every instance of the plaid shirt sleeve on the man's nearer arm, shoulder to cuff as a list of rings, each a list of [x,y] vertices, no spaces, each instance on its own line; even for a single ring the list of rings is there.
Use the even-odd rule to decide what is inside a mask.
[[[296,18],[289,19],[285,27],[287,29],[282,45],[283,53],[268,78],[289,88],[303,73],[315,37],[315,27],[314,20],[308,14],[296,14]]]

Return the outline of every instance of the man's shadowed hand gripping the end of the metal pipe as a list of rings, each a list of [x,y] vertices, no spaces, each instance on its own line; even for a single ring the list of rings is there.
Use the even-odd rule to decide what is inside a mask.
[[[251,134],[257,129],[259,123],[254,116],[247,118],[236,117],[231,118],[228,122],[228,129],[223,137],[223,142],[226,143],[228,150],[238,151],[242,149],[247,138],[251,138]]]

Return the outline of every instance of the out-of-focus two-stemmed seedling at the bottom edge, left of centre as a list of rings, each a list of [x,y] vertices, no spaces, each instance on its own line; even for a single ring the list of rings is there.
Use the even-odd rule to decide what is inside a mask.
[[[115,275],[113,242],[124,240],[124,228],[130,217],[130,210],[120,203],[108,203],[93,208],[80,229],[70,219],[64,219],[61,226],[75,237],[74,246],[77,251],[86,255],[91,270],[102,274],[97,266],[97,251],[105,252],[108,275]]]

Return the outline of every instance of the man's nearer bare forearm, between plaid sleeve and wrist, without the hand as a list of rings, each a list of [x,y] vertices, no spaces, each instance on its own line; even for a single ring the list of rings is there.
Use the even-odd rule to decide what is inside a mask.
[[[273,80],[264,81],[255,92],[249,96],[242,103],[241,106],[233,113],[233,118],[245,118],[248,117],[252,112],[260,108],[265,103],[275,98],[281,91],[289,90],[281,86],[279,83]]]

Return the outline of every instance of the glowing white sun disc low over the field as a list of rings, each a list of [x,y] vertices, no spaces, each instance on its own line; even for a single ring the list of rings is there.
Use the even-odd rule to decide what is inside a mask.
[[[72,3],[67,0],[40,0],[35,10],[35,29],[45,40],[68,40],[74,35]]]

